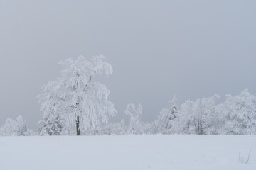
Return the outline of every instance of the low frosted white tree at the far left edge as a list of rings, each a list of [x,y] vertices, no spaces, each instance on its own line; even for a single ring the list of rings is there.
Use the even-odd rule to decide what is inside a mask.
[[[26,127],[26,120],[23,120],[19,115],[16,119],[7,118],[4,126],[0,128],[0,135],[2,136],[28,136],[31,130]]]

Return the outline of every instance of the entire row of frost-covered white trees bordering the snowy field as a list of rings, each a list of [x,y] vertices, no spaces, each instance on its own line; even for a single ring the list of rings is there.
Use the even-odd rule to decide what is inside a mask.
[[[97,74],[112,74],[112,66],[104,60],[100,55],[60,61],[64,67],[60,76],[44,85],[37,96],[43,111],[40,128],[29,130],[18,116],[6,120],[0,135],[256,134],[256,97],[248,89],[237,96],[227,95],[223,103],[217,103],[220,97],[215,95],[188,99],[178,106],[174,97],[152,123],[142,121],[141,104],[130,103],[124,111],[129,125],[124,120],[110,123],[117,111],[108,100],[110,91],[95,79]]]

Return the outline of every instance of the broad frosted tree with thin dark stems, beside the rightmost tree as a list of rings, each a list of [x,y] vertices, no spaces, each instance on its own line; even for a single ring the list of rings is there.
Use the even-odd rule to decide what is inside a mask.
[[[187,100],[181,105],[181,112],[175,121],[174,131],[185,134],[215,134],[215,102],[219,96],[201,98],[196,101]]]

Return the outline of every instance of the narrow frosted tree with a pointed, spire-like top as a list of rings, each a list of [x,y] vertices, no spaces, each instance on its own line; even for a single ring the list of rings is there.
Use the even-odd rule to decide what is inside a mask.
[[[172,128],[174,124],[174,119],[178,115],[178,106],[176,104],[176,98],[170,101],[171,107],[164,108],[156,120],[155,124],[159,132],[162,134],[171,134],[174,133],[174,129]]]

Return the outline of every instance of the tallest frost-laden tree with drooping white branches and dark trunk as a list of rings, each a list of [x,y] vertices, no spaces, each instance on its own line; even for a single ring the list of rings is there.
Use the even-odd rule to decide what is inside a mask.
[[[110,91],[95,79],[96,74],[112,74],[112,66],[103,60],[105,57],[100,55],[59,62],[65,69],[58,79],[43,86],[43,94],[38,96],[44,112],[41,124],[48,127],[46,130],[59,133],[68,124],[65,120],[72,118],[75,133],[80,135],[80,130],[95,130],[117,115],[108,101]]]

